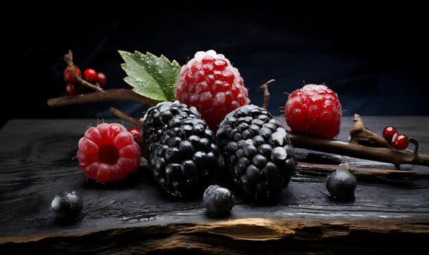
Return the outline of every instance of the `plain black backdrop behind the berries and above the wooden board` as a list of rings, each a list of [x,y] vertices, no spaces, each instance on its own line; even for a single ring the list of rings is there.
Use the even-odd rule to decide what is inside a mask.
[[[326,83],[339,94],[345,116],[429,114],[427,18],[421,6],[285,8],[267,1],[234,9],[222,2],[173,8],[160,3],[115,3],[104,6],[108,11],[80,3],[42,11],[26,5],[15,10],[16,18],[3,17],[8,68],[1,124],[10,118],[110,118],[110,105],[141,116],[145,107],[126,102],[47,107],[48,98],[66,95],[62,57],[69,49],[82,72],[106,73],[106,89],[130,88],[118,50],[149,51],[184,64],[197,51],[215,49],[241,72],[252,103],[262,105],[260,84],[277,80],[269,105],[275,115],[286,102],[284,92],[304,82]]]

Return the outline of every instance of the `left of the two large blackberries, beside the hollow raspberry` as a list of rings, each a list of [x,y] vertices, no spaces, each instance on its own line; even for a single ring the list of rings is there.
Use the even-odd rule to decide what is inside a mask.
[[[174,196],[204,191],[218,167],[215,135],[195,107],[175,101],[151,107],[143,117],[142,144],[156,181]]]

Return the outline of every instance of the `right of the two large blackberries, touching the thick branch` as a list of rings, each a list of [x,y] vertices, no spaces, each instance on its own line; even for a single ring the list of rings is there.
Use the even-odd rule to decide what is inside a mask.
[[[234,184],[247,198],[275,195],[295,174],[291,140],[266,109],[235,109],[221,122],[216,138]]]

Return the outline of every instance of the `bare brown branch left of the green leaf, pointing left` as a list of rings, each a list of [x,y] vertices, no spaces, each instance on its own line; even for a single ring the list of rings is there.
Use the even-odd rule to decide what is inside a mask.
[[[141,103],[147,106],[153,106],[159,103],[158,100],[141,96],[132,90],[127,89],[112,89],[88,94],[80,94],[76,96],[61,96],[47,100],[49,107],[60,107],[65,105],[78,105],[83,103],[94,103],[108,100],[126,100],[136,103]]]

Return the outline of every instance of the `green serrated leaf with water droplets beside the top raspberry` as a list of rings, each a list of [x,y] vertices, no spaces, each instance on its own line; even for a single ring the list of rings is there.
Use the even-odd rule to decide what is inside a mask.
[[[122,69],[127,73],[124,81],[133,87],[133,91],[142,96],[161,101],[175,100],[175,88],[180,75],[180,64],[170,62],[167,57],[147,52],[119,51],[125,63]]]

